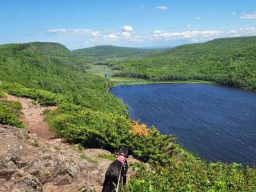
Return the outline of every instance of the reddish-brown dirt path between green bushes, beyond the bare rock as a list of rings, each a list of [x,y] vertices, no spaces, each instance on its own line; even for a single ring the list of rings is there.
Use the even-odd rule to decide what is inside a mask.
[[[32,134],[36,134],[39,138],[45,140],[54,136],[54,132],[50,130],[47,122],[44,121],[43,111],[45,109],[54,110],[56,107],[41,107],[39,103],[35,103],[30,98],[18,98],[9,94],[7,94],[7,100],[21,103],[23,112],[21,120],[24,122],[25,128],[30,130]]]

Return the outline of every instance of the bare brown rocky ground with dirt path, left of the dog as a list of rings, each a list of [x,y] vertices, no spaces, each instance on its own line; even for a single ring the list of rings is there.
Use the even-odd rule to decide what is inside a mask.
[[[8,100],[21,102],[26,129],[0,125],[0,191],[101,191],[111,160],[99,155],[109,151],[50,139],[44,107],[26,98]],[[131,162],[138,161],[129,157]]]

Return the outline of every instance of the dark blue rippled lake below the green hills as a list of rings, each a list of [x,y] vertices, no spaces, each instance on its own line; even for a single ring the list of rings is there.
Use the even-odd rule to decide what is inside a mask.
[[[209,161],[256,165],[256,94],[207,84],[122,85],[130,117]]]

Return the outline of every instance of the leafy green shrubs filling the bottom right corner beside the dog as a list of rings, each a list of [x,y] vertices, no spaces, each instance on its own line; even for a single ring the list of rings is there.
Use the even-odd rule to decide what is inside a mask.
[[[122,191],[253,191],[255,169],[237,164],[210,163],[183,151],[171,158],[171,166],[137,164],[136,175]]]

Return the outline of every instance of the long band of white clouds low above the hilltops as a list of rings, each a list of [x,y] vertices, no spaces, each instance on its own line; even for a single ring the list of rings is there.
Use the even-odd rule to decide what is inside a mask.
[[[254,26],[247,28],[237,28],[229,30],[189,30],[191,25],[186,25],[183,31],[163,31],[155,30],[153,32],[138,33],[134,31],[129,25],[122,28],[108,29],[108,30],[91,30],[91,29],[65,29],[56,28],[46,30],[47,33],[56,35],[72,35],[82,36],[83,42],[88,45],[92,44],[107,44],[111,42],[124,43],[136,42],[147,43],[156,41],[176,41],[184,39],[192,42],[203,42],[221,37],[233,36],[252,36],[256,35],[256,28]],[[171,30],[171,29],[170,29]]]

